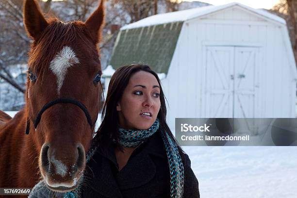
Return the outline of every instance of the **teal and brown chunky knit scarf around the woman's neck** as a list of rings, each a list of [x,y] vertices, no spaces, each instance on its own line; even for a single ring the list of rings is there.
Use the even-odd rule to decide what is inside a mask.
[[[157,132],[159,129],[159,120],[158,118],[154,124],[146,130],[127,130],[119,128],[119,143],[122,147],[132,147],[135,148],[140,145],[144,140],[148,139],[151,135]],[[183,165],[181,162],[181,155],[178,150],[178,147],[174,140],[168,135],[168,132],[162,131],[161,136],[163,139],[164,147],[166,150],[166,155],[169,164],[170,171],[170,197],[171,198],[182,198],[183,194],[183,181],[184,181],[184,172]],[[86,161],[88,162],[93,154],[95,153],[97,146],[87,154]],[[78,186],[75,190],[67,192],[64,198],[79,198],[80,197],[81,186]]]

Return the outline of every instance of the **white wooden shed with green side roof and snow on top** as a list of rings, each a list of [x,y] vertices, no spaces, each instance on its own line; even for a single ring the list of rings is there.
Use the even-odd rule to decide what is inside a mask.
[[[150,16],[121,28],[110,65],[150,65],[176,117],[295,117],[286,22],[240,3]]]

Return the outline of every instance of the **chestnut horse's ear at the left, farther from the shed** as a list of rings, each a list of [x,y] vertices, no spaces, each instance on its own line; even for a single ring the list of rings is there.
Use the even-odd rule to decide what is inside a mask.
[[[38,40],[41,33],[49,25],[40,12],[35,0],[24,0],[24,24],[29,35]]]

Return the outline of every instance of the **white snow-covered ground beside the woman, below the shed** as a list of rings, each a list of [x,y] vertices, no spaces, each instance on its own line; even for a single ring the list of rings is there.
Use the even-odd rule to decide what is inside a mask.
[[[297,198],[297,147],[183,149],[201,198]]]

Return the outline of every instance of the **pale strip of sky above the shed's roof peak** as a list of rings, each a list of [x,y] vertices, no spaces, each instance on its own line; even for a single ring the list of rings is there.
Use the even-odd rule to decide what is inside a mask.
[[[195,1],[195,0],[183,0],[183,1]],[[201,2],[210,3],[213,5],[223,5],[231,2],[238,2],[247,5],[252,8],[265,8],[270,9],[277,4],[280,0],[199,0]]]

